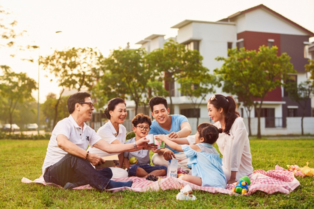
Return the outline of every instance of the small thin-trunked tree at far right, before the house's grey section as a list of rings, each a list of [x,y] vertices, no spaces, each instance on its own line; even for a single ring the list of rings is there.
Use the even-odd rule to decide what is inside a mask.
[[[311,100],[311,94],[314,93],[314,86],[309,80],[301,82],[299,85],[296,85],[295,82],[289,82],[287,84],[287,91],[289,97],[293,101],[297,102],[299,106],[303,109],[301,117],[301,134],[304,135],[303,118],[305,116],[307,104]]]

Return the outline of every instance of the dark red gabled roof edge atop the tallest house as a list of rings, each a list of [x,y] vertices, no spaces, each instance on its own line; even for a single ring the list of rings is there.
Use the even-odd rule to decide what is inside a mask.
[[[245,14],[245,13],[249,13],[249,12],[251,12],[251,11],[253,11],[253,10],[260,9],[260,8],[261,8],[261,9],[264,9],[264,10],[268,11],[269,13],[272,13],[273,15],[275,15],[275,16],[277,16],[277,17],[283,19],[284,21],[286,21],[286,22],[288,22],[288,23],[290,23],[290,24],[296,26],[297,28],[299,28],[299,29],[303,30],[304,32],[306,32],[307,34],[309,34],[310,36],[314,36],[314,33],[313,33],[313,32],[309,31],[309,30],[306,29],[306,28],[303,28],[303,27],[300,26],[299,24],[296,24],[296,23],[293,22],[292,20],[290,20],[290,19],[288,19],[288,18],[282,16],[281,14],[279,14],[279,13],[273,11],[272,9],[266,7],[266,6],[263,5],[263,4],[260,4],[260,5],[257,5],[257,6],[255,6],[255,7],[248,8],[248,9],[246,9],[246,10],[243,10],[243,11],[240,11],[240,12],[237,12],[237,13],[234,13],[234,14],[230,15],[228,18],[221,19],[221,20],[219,20],[219,21],[226,21],[227,19],[231,20],[231,19],[233,19],[233,18],[238,17],[239,15],[242,15],[242,14]]]

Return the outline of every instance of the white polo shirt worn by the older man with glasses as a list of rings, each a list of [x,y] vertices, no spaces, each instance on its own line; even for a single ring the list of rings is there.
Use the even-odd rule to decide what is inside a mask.
[[[88,145],[93,146],[101,137],[97,135],[94,129],[84,123],[83,130],[75,122],[72,115],[59,121],[55,128],[53,128],[51,137],[48,143],[47,153],[42,165],[42,173],[45,173],[47,167],[54,165],[64,155],[68,154],[66,151],[58,147],[57,136],[59,134],[65,135],[70,142],[76,144],[79,148],[86,150]]]

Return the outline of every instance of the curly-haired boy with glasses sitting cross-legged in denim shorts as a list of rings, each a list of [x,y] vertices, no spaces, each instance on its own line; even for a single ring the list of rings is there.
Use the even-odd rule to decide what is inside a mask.
[[[149,116],[139,113],[132,119],[132,124],[135,137],[127,140],[125,144],[133,144],[140,138],[145,137],[149,132],[149,127],[152,122]],[[132,157],[137,159],[136,164],[130,164],[130,158]],[[124,152],[124,164],[128,169],[129,176],[146,178],[148,175],[163,176],[167,173],[166,166],[150,165],[149,150],[146,149],[141,149],[134,152]]]

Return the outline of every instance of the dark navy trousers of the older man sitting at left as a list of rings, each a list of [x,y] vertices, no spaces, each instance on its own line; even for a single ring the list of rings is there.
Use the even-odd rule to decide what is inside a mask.
[[[110,168],[96,170],[88,160],[72,154],[66,154],[56,164],[46,168],[44,179],[46,182],[64,186],[67,182],[77,186],[91,185],[103,191],[107,188],[112,177]]]

